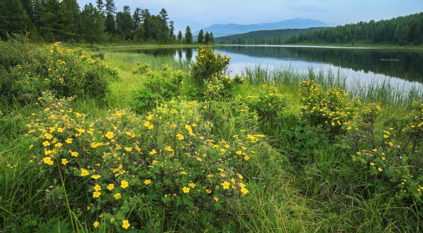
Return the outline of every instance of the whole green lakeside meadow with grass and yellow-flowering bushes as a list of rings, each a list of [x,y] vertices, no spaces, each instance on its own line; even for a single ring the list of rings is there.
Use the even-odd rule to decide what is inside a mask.
[[[422,232],[422,90],[84,50],[0,42],[2,232]]]

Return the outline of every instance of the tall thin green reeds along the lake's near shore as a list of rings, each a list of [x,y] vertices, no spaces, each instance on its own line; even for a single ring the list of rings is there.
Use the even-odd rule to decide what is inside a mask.
[[[416,85],[396,85],[390,79],[380,82],[372,80],[369,84],[358,80],[348,81],[340,70],[309,69],[299,72],[292,68],[269,68],[260,65],[246,67],[242,75],[253,84],[284,85],[291,91],[300,88],[299,83],[304,80],[315,80],[324,89],[339,87],[347,91],[351,99],[359,98],[366,102],[377,102],[384,106],[409,106],[415,100],[423,99],[423,88]]]

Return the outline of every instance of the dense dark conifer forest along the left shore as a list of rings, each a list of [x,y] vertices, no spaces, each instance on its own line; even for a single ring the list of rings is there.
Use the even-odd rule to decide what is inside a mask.
[[[129,6],[117,11],[114,0],[96,0],[80,8],[76,0],[0,0],[0,37],[29,33],[35,42],[153,42],[193,43],[191,29],[175,35],[174,21],[165,9]]]

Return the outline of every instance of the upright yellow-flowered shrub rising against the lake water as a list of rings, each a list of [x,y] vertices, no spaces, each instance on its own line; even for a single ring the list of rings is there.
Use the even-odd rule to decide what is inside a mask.
[[[212,76],[221,77],[230,61],[229,56],[215,53],[211,46],[199,48],[195,58],[197,61],[191,65],[191,73],[194,80],[201,82]]]

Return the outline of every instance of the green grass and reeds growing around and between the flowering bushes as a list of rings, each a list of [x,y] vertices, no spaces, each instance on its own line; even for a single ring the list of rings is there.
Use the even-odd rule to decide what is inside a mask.
[[[128,47],[110,48],[127,49]],[[133,109],[134,92],[146,88],[145,85],[148,84],[146,81],[151,78],[147,73],[133,72],[138,62],[148,64],[151,72],[159,72],[162,64],[168,65],[172,70],[189,72],[191,69],[190,64],[176,61],[172,56],[154,57],[142,53],[115,52],[109,50],[107,46],[87,48],[87,50],[92,54],[101,53],[105,64],[115,69],[119,76],[108,85],[103,101],[76,98],[71,102],[74,112],[87,114],[87,121],[109,117],[108,110],[136,110]],[[341,75],[328,75],[318,71],[299,74],[292,70],[250,67],[246,69],[244,76],[247,78],[246,82],[232,87],[230,97],[218,103],[219,108],[216,111],[219,116],[212,118],[215,120],[215,127],[212,130],[215,139],[229,141],[231,139],[228,138],[232,138],[232,135],[237,134],[236,132],[251,129],[266,135],[265,140],[260,141],[256,146],[258,153],[250,154],[248,164],[241,168],[245,171],[243,175],[248,181],[249,190],[249,193],[241,199],[242,204],[232,206],[232,209],[222,216],[209,216],[207,210],[205,214],[204,210],[196,206],[186,210],[189,219],[183,221],[178,216],[177,210],[176,212],[169,212],[166,208],[163,212],[152,209],[144,210],[144,212],[134,210],[137,214],[134,213],[129,217],[138,219],[139,222],[131,222],[131,226],[136,226],[140,231],[135,229],[128,231],[422,232],[422,200],[418,198],[418,194],[415,198],[400,200],[398,190],[395,188],[396,183],[389,183],[389,176],[394,179],[392,177],[396,176],[396,169],[401,165],[409,167],[410,173],[421,176],[422,168],[419,167],[421,154],[419,153],[422,150],[416,149],[417,153],[403,151],[403,156],[407,156],[412,162],[409,164],[389,162],[389,166],[384,167],[384,170],[391,169],[392,171],[389,170],[391,173],[387,176],[374,175],[374,171],[366,173],[367,167],[362,170],[351,159],[351,155],[355,155],[356,152],[347,146],[348,137],[345,135],[349,134],[339,133],[333,136],[335,134],[327,132],[334,131],[325,131],[321,125],[307,122],[307,120],[312,121],[313,117],[307,119],[303,113],[307,110],[301,108],[304,105],[304,94],[299,91],[300,82],[313,79],[320,84],[323,92],[334,87],[348,90]],[[194,88],[193,83],[194,81],[187,79],[181,85],[184,90],[189,90]],[[275,93],[283,94],[283,100],[286,101],[283,111],[273,115],[260,115],[259,106],[256,111],[259,113],[259,118],[255,122],[238,113],[238,110],[231,105],[232,101],[238,101],[235,97],[244,100],[250,95],[266,93],[269,86],[276,87]],[[405,120],[412,109],[412,102],[422,98],[422,90],[412,90],[409,94],[405,94],[401,90],[395,91],[392,88],[388,83],[370,87],[367,91],[356,87],[349,90],[349,97],[345,101],[353,102],[356,97],[360,97],[364,104],[378,103],[381,107],[380,118],[378,122],[375,122],[374,131],[382,132],[387,129],[385,124],[388,122],[388,116],[395,113],[395,117]],[[338,94],[336,93],[336,96]],[[352,103],[351,107],[353,104],[356,102]],[[120,225],[119,230],[106,227],[106,220],[98,217],[98,214],[103,216],[103,210],[89,212],[87,209],[85,211],[88,203],[92,203],[90,197],[81,191],[88,189],[84,186],[85,184],[78,183],[78,180],[67,179],[66,176],[62,177],[62,173],[55,183],[47,178],[33,179],[33,177],[40,177],[39,170],[33,169],[32,165],[35,163],[37,150],[29,150],[31,142],[22,140],[22,135],[27,131],[24,126],[27,124],[27,119],[32,117],[32,113],[42,112],[36,102],[2,100],[0,110],[0,117],[2,117],[0,118],[2,133],[0,136],[0,232],[123,231]],[[137,111],[137,113],[144,116],[147,111],[151,110]],[[344,129],[346,126],[342,127],[342,132],[348,133]],[[390,131],[393,132],[393,130]],[[375,132],[374,134],[377,134]],[[400,145],[402,140],[398,133],[398,138],[394,142]],[[419,143],[418,145],[421,145],[421,141]],[[389,147],[382,145],[381,148],[379,150],[386,151],[389,156],[394,157],[394,152],[389,152],[391,150]],[[48,171],[45,172],[47,177]],[[64,181],[68,183],[65,185]],[[64,196],[60,194],[61,187],[67,191]],[[103,191],[105,190],[106,187],[103,187]],[[54,192],[57,193],[54,194]],[[65,197],[67,204],[50,203],[49,199],[53,201],[54,195],[62,197],[60,199],[62,201]],[[141,205],[142,202],[144,201],[137,203]],[[154,217],[155,215],[159,217]],[[152,222],[151,219],[160,220]],[[213,219],[213,222],[208,222],[210,219]],[[93,227],[95,221],[100,221],[98,227],[95,225]]]

